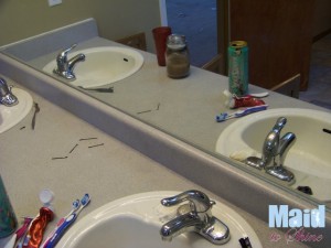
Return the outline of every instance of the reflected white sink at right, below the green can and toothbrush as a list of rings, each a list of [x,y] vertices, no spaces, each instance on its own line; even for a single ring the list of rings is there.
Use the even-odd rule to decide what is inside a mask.
[[[281,108],[246,116],[224,129],[216,142],[216,152],[229,157],[238,151],[255,151],[260,157],[264,140],[279,117],[287,118],[281,134],[293,132],[297,136],[285,159],[285,165],[296,176],[292,187],[310,186],[316,198],[330,201],[330,112]]]

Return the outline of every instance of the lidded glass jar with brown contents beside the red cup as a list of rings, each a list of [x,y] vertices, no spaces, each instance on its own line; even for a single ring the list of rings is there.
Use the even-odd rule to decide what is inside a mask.
[[[171,34],[167,40],[167,73],[171,78],[186,77],[190,73],[190,54],[184,35]]]

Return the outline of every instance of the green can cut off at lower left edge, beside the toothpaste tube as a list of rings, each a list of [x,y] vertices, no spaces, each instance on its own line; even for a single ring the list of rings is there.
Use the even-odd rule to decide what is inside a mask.
[[[0,175],[0,238],[11,235],[18,222]]]

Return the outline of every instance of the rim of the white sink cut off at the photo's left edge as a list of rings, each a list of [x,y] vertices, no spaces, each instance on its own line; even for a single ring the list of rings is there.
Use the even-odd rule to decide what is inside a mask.
[[[14,126],[17,126],[21,120],[23,120],[30,110],[32,109],[33,106],[33,99],[32,96],[24,89],[13,87],[12,93],[18,97],[19,104],[12,107],[6,107],[3,105],[0,105],[0,115],[1,115],[1,109],[4,109],[3,111],[12,111],[12,112],[19,112],[19,118],[15,118],[8,122],[8,119],[2,119],[0,117],[1,122],[0,122],[0,133],[3,133]],[[12,119],[12,118],[10,118]]]

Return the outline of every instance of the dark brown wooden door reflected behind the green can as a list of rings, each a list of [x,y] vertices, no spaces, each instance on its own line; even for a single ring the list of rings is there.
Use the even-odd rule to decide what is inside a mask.
[[[247,41],[249,83],[275,88],[300,74],[307,89],[316,0],[229,0],[229,40]]]

